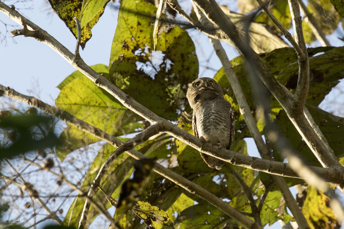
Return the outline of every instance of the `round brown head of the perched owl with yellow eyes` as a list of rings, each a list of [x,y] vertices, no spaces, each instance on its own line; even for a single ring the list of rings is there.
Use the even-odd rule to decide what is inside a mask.
[[[189,100],[190,106],[202,99],[211,99],[217,96],[223,98],[223,92],[218,83],[212,78],[203,77],[194,80],[188,84],[186,98]]]

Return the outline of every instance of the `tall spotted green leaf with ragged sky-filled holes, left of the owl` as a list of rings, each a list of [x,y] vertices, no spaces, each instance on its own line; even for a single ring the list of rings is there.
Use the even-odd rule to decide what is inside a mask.
[[[187,83],[198,75],[195,46],[178,25],[162,25],[153,51],[157,8],[143,0],[121,1],[110,57],[110,80],[159,116],[176,120]]]

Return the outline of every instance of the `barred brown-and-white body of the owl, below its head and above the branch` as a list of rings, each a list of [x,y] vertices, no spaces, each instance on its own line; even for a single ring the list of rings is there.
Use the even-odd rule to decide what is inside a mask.
[[[200,100],[194,109],[196,128],[199,137],[212,143],[220,143],[223,148],[229,148],[230,129],[232,128],[232,107],[223,98]]]

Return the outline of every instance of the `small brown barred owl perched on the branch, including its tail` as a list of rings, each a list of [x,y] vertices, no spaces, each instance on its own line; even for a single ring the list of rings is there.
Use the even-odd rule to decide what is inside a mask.
[[[189,83],[186,98],[193,109],[193,134],[202,141],[230,149],[233,143],[235,118],[232,106],[223,98],[218,83],[211,78],[199,78]],[[224,161],[201,153],[209,167],[220,170]]]

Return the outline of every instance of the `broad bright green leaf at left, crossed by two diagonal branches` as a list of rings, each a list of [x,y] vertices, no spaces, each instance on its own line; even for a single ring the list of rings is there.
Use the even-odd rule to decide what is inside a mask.
[[[108,67],[104,65],[92,66],[104,77],[109,78]],[[108,134],[121,136],[135,133],[142,127],[138,115],[124,107],[112,95],[99,88],[79,71],[68,76],[58,88],[60,94],[55,100],[58,108],[67,111],[77,118],[106,131]],[[99,141],[84,131],[68,125],[60,135],[64,145],[56,148],[57,156],[63,160],[71,151]]]

